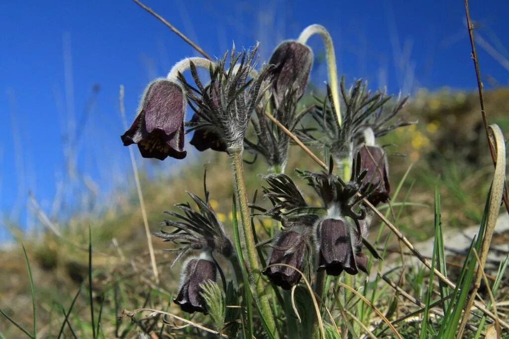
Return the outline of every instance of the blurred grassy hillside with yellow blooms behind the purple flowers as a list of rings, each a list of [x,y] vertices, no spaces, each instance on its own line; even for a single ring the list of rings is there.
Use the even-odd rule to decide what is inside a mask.
[[[507,137],[509,89],[486,92],[485,102],[489,123],[499,124]],[[390,133],[382,141],[388,145],[392,188],[398,185],[411,166],[402,192],[393,202],[393,213],[400,213],[402,203],[406,205],[398,221],[400,230],[412,241],[426,239],[432,234],[433,192],[438,177],[444,228],[478,223],[483,214],[493,163],[480,118],[477,92],[444,89],[429,93],[421,90],[411,98],[404,114],[409,120],[418,120],[418,124]],[[252,156],[246,154],[245,159],[250,161]],[[151,231],[159,230],[159,223],[165,218],[163,211],[173,209],[174,204],[190,201],[186,190],[203,196],[205,164],[212,207],[227,230],[231,231],[233,189],[230,159],[224,153],[213,151],[204,152],[192,166],[179,168],[171,176],[151,180],[142,176]],[[305,183],[295,176],[294,168],[319,171],[320,167],[303,151],[292,147],[286,172],[296,179],[301,189],[308,193],[308,199],[313,201],[314,197]],[[267,165],[259,158],[252,165],[246,164],[245,170],[248,190],[254,194],[263,185],[257,175],[265,174]],[[131,171],[127,173],[131,175]],[[172,291],[177,284],[180,266],[177,264],[169,270],[168,263],[173,254],[163,249],[171,244],[152,239],[162,280],[160,287],[154,286],[150,280],[152,271],[135,187],[115,200],[119,203],[108,207],[101,215],[76,214],[62,227],[60,236],[43,223],[40,227],[45,232],[37,238],[14,232],[17,242],[1,249],[0,308],[21,325],[30,328],[32,300],[19,244],[23,242],[36,285],[40,336],[58,332],[63,319],[60,305],[67,309],[78,287],[87,279],[89,226],[93,244],[94,297],[97,304],[104,307],[102,326],[106,337],[115,332],[122,334],[123,331],[126,331],[127,337],[132,337],[134,332],[131,331],[136,326],[128,320],[119,322],[117,319],[122,308],[134,309],[144,304],[155,307],[155,300],[170,302],[171,295],[167,291]],[[372,234],[376,234],[377,227],[375,225]],[[260,238],[266,239],[262,231]],[[147,286],[152,287],[149,289],[151,292],[148,292]],[[90,312],[86,299],[86,293],[83,293],[77,299],[73,312],[82,314],[83,318],[88,317]],[[70,317],[75,330],[90,333],[90,325],[80,319],[76,315]],[[5,318],[0,318],[0,332],[6,337],[16,337],[20,333]]]

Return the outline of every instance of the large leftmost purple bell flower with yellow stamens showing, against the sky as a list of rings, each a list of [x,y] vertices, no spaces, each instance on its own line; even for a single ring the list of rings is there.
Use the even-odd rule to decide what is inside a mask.
[[[138,144],[144,158],[183,159],[185,95],[182,87],[167,79],[152,81],[147,87],[139,114],[121,136],[124,146]]]

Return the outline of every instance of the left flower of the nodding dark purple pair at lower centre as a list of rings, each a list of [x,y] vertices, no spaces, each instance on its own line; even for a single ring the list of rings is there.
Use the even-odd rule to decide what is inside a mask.
[[[286,264],[302,272],[306,243],[304,236],[294,231],[284,231],[277,238],[269,265]],[[300,281],[300,273],[288,266],[275,265],[262,272],[277,286],[291,290]]]

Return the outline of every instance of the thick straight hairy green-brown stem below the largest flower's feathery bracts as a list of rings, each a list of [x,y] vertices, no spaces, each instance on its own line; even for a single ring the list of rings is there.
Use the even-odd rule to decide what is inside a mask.
[[[275,338],[278,337],[276,325],[272,310],[270,309],[269,300],[267,298],[265,287],[261,278],[260,263],[258,262],[258,255],[256,251],[256,244],[254,243],[254,236],[251,228],[251,221],[249,218],[249,207],[247,202],[246,186],[244,184],[244,166],[242,163],[243,149],[230,150],[232,156],[232,167],[234,175],[234,188],[235,196],[239,203],[240,221],[242,227],[239,228],[240,236],[244,241],[241,241],[242,251],[247,255],[247,273],[249,275],[249,285],[254,297],[254,300],[260,306],[261,316],[266,321],[268,329],[272,332]]]

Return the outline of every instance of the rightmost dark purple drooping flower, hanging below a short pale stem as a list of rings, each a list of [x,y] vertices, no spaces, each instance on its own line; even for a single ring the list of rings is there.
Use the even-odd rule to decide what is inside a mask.
[[[367,173],[362,179],[364,187],[378,185],[378,187],[367,196],[367,200],[374,206],[385,203],[389,200],[389,166],[385,151],[378,146],[362,145],[358,149],[360,154],[361,171],[366,170]]]

